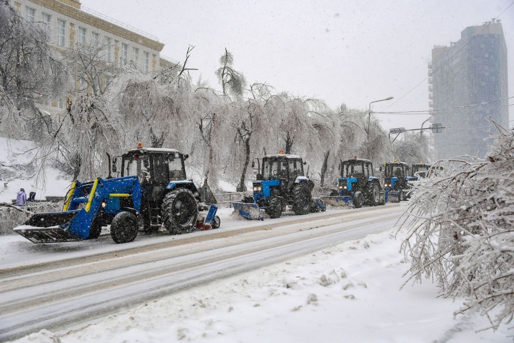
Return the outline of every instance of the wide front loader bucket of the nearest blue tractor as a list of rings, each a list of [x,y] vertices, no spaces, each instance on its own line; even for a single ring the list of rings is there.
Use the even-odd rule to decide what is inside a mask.
[[[68,230],[69,223],[79,211],[36,213],[14,232],[32,243],[59,243],[82,241],[82,238]]]

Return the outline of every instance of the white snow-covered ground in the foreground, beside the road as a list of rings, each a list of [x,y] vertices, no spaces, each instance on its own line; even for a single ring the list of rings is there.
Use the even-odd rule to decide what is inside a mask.
[[[509,332],[429,281],[399,290],[407,269],[396,230],[215,281],[67,332],[17,342],[502,342]],[[511,333],[510,333],[511,334]]]

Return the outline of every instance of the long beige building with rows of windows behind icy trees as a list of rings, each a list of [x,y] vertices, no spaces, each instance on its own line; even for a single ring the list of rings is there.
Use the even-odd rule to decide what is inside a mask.
[[[96,11],[77,0],[10,0],[27,21],[42,22],[49,30],[49,44],[66,55],[80,45],[104,47],[102,59],[112,65],[134,63],[143,71],[169,66],[175,61],[161,58],[164,44],[158,38]],[[41,109],[52,114],[64,109],[65,96],[48,100]]]

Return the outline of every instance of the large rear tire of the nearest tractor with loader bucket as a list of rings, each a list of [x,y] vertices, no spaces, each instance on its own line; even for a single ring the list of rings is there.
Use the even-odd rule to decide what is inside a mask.
[[[164,227],[171,234],[193,232],[198,218],[198,204],[193,193],[189,189],[179,188],[166,194],[161,216]]]

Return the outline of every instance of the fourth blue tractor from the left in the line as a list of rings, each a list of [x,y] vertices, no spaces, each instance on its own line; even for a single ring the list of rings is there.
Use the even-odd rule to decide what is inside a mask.
[[[382,170],[382,167],[380,167]],[[383,165],[384,189],[391,201],[399,203],[407,199],[410,190],[409,165],[394,159],[393,162],[385,162]]]

